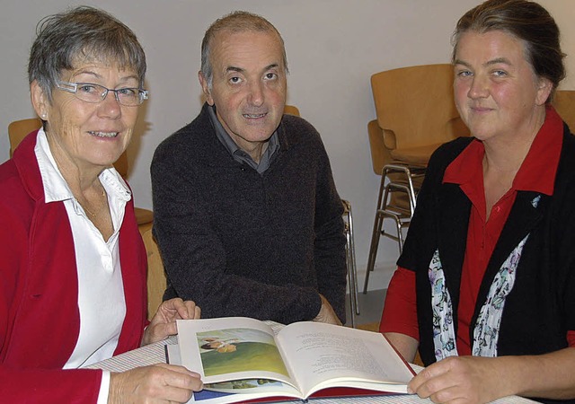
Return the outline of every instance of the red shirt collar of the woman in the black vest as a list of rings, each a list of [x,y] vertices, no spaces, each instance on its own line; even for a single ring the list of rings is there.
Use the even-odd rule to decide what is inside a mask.
[[[555,174],[562,149],[562,119],[547,107],[543,126],[537,132],[525,160],[513,180],[511,189],[540,192],[553,195]],[[482,174],[485,149],[482,142],[474,139],[446,169],[443,182],[465,184]]]

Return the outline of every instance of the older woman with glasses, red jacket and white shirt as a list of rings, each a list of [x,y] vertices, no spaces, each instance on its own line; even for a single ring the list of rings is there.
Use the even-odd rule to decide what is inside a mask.
[[[176,333],[199,317],[164,302],[146,321],[146,250],[128,185],[112,167],[128,146],[146,57],[108,13],[44,19],[29,80],[43,127],[0,166],[0,391],[6,402],[185,402],[197,373],[157,364],[81,366]]]

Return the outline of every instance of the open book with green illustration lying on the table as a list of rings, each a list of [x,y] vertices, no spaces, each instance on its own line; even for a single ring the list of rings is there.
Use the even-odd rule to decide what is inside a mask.
[[[178,335],[178,346],[168,346],[170,363],[204,382],[190,402],[406,393],[415,374],[383,335],[320,322],[296,322],[274,335],[248,318],[181,320]]]

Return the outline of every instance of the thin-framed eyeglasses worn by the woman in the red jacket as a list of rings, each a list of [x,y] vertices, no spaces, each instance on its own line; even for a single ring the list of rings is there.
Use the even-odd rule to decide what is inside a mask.
[[[81,101],[98,103],[106,99],[108,92],[113,92],[116,101],[126,107],[137,107],[148,99],[148,92],[139,88],[119,88],[112,90],[100,84],[94,83],[66,83],[58,81],[57,88],[65,92],[72,92],[75,98]]]

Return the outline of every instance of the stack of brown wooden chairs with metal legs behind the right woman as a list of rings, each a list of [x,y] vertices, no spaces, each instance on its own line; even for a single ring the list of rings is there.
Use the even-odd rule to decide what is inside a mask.
[[[439,145],[468,136],[453,95],[453,66],[410,66],[371,76],[377,119],[367,124],[373,169],[381,175],[364,294],[381,236],[397,242],[409,227],[429,157]],[[394,232],[385,230],[385,219]]]

